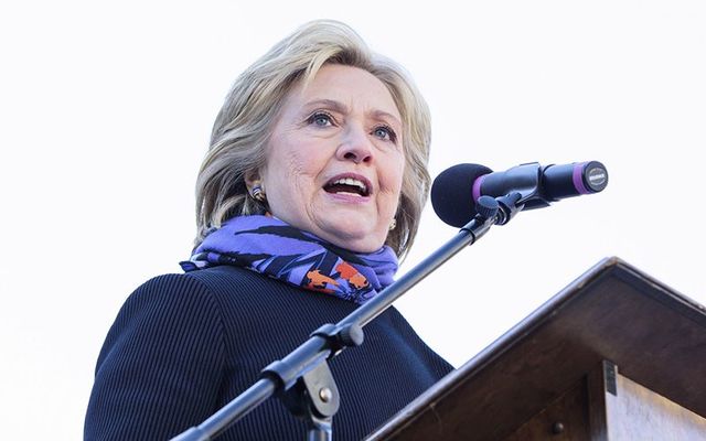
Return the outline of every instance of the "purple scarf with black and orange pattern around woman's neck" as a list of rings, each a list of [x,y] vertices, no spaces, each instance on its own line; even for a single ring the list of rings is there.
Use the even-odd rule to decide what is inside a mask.
[[[397,256],[388,246],[371,254],[347,251],[270,216],[237,216],[211,232],[180,265],[186,272],[245,267],[363,304],[393,282]]]

